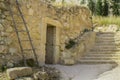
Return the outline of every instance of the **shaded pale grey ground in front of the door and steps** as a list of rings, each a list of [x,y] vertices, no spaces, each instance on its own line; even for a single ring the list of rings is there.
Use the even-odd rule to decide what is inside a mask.
[[[54,67],[61,71],[62,80],[94,80],[100,74],[111,70],[114,66],[113,64],[54,65]]]

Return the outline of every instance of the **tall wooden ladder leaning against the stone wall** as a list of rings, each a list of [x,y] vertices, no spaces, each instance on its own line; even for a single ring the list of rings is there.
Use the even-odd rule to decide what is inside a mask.
[[[26,58],[25,58],[25,55],[24,55],[25,52],[26,51],[32,51],[32,53],[34,54],[36,65],[39,66],[36,50],[35,50],[34,45],[33,45],[33,40],[31,39],[31,35],[30,35],[30,32],[29,32],[28,26],[26,24],[24,15],[23,15],[22,10],[20,8],[20,4],[19,4],[18,0],[16,0],[15,7],[17,8],[18,14],[15,14],[14,11],[12,10],[10,0],[8,0],[8,3],[9,3],[10,15],[12,17],[13,27],[15,29],[15,32],[16,32],[16,35],[17,35],[17,39],[18,39],[18,42],[19,42],[19,46],[20,46],[20,49],[21,49],[22,57],[23,57],[23,60],[24,60],[24,65],[27,66]],[[17,20],[15,20],[14,15],[17,15],[21,19],[21,22],[19,22],[19,23],[23,25],[24,30],[19,30],[18,29],[18,27],[19,27],[18,24],[19,23],[17,22]],[[22,33],[22,32],[27,34],[27,38],[28,38],[27,40],[23,40],[20,37],[20,33]],[[22,41],[29,42],[31,48],[30,49],[24,49],[24,46],[22,45]]]

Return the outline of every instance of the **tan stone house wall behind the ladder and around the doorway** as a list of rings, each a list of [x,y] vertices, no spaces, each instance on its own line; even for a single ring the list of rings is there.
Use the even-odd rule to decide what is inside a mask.
[[[10,0],[10,4],[12,5],[11,8],[14,13],[19,14],[16,9],[15,0]],[[90,11],[85,7],[73,6],[57,8],[42,0],[19,0],[19,4],[28,25],[40,64],[45,63],[47,24],[56,27],[56,40],[54,42],[55,52],[58,53],[58,55],[54,55],[56,58],[55,63],[60,62],[60,55],[65,51],[65,45],[70,39],[75,39],[84,29],[91,29],[92,27]],[[5,42],[4,45],[0,45],[0,56],[6,59],[6,54],[10,55],[13,58],[10,58],[10,60],[14,62],[22,59],[22,57],[8,5],[7,0],[0,0],[0,39],[3,39]],[[14,15],[14,17],[16,21],[21,22],[19,16]],[[24,29],[22,24],[17,23],[17,25],[19,26],[19,30]],[[20,36],[23,40],[27,38],[26,33]],[[2,41],[0,41],[0,43],[2,43]],[[24,48],[30,48],[29,43],[23,42],[22,44]],[[26,58],[34,58],[31,51],[24,53],[24,55]]]

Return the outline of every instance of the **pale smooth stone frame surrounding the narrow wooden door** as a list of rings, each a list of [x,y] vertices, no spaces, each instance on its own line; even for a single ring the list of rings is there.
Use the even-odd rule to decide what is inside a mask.
[[[47,25],[53,25],[55,27],[55,40],[54,40],[54,54],[53,54],[53,64],[57,64],[60,61],[60,28],[62,27],[61,23],[57,20],[51,18],[44,18],[42,20],[42,26],[40,27],[41,33],[41,52],[44,54],[44,63],[45,63],[45,55],[46,55],[46,33],[47,33]]]

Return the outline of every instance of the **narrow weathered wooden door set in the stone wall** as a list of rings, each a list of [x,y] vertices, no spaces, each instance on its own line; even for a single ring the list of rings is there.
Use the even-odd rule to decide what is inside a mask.
[[[56,27],[53,25],[47,24],[46,55],[45,55],[45,63],[46,64],[53,64],[54,63],[55,35],[56,35]]]

